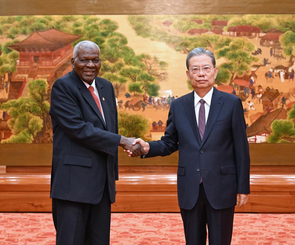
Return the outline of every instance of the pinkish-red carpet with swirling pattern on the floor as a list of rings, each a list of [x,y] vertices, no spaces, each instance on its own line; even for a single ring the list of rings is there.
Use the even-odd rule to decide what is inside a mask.
[[[50,213],[0,213],[0,245],[54,245]],[[112,245],[183,245],[179,213],[113,213]],[[232,245],[294,245],[295,214],[235,214]]]

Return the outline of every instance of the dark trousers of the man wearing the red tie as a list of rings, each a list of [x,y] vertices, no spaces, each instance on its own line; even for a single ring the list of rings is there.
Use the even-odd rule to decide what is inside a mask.
[[[56,245],[109,245],[111,201],[107,184],[99,204],[52,199]]]

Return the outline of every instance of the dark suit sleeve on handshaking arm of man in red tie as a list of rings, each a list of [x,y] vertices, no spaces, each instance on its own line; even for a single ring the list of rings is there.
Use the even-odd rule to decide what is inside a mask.
[[[58,126],[73,141],[99,152],[115,156],[121,136],[95,127],[85,122],[73,87],[58,79],[51,90],[51,113]]]

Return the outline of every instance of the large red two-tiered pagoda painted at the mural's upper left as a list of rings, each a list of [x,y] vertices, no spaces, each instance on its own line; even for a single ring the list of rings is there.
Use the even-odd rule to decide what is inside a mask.
[[[17,71],[12,82],[28,78],[45,78],[50,82],[55,75],[62,76],[71,70],[72,43],[80,37],[52,28],[35,31],[23,41],[10,45],[9,48],[19,51]]]

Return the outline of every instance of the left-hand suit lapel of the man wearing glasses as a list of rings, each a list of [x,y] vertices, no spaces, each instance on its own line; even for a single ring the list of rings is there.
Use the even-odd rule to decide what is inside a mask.
[[[189,119],[189,123],[191,124],[191,128],[193,129],[194,135],[199,145],[201,145],[201,138],[197,125],[196,112],[194,106],[194,91],[189,95],[189,98],[187,98],[186,100],[187,101],[184,103],[184,110],[186,112],[186,116]]]

